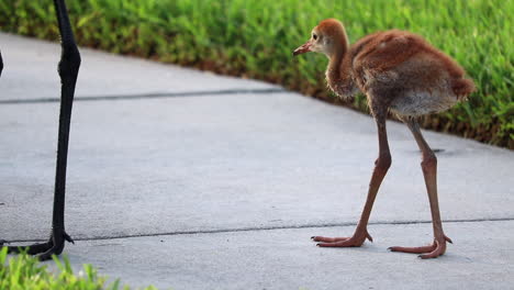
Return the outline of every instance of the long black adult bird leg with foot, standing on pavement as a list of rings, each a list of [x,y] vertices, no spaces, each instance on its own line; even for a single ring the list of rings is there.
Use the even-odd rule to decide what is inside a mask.
[[[40,259],[49,259],[52,255],[63,253],[66,241],[71,237],[65,231],[65,190],[66,190],[66,164],[68,157],[69,123],[71,107],[74,103],[75,83],[80,67],[80,54],[75,43],[71,25],[64,0],[54,0],[55,12],[60,32],[60,45],[63,53],[58,65],[60,77],[60,112],[59,132],[57,141],[57,168],[55,174],[54,212],[52,217],[52,233],[48,242],[30,246],[9,246],[10,253],[19,253],[24,248],[31,255],[37,255]],[[0,242],[1,246],[2,242]]]

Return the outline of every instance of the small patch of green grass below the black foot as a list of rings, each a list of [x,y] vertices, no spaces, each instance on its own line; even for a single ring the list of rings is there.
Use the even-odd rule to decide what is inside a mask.
[[[74,274],[71,265],[66,257],[60,261],[54,257],[58,267],[57,272],[51,272],[46,266],[26,254],[13,256],[8,259],[7,248],[0,249],[0,290],[118,290],[120,281],[105,287],[105,277],[99,277],[91,265],[83,265],[83,270]],[[148,287],[146,290],[156,290]]]

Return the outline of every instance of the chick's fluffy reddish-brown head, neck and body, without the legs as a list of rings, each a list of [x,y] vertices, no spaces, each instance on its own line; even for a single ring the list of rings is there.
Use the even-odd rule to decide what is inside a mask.
[[[295,53],[327,55],[331,89],[340,97],[362,91],[372,112],[376,105],[401,115],[440,112],[474,90],[465,70],[420,35],[390,30],[365,36],[351,46],[347,43],[340,22],[328,19],[314,27],[308,47]]]

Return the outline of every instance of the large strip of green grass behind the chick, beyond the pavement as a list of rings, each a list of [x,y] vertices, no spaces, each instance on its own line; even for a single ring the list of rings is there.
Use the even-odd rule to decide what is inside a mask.
[[[423,125],[514,148],[514,0],[82,0],[67,4],[80,45],[264,79],[332,102],[338,101],[326,90],[325,57],[291,55],[320,20],[342,20],[351,42],[378,30],[409,30],[457,59],[478,86],[469,102],[425,118]],[[57,38],[51,0],[0,0],[0,11],[1,30]],[[350,105],[367,110],[362,97]]]

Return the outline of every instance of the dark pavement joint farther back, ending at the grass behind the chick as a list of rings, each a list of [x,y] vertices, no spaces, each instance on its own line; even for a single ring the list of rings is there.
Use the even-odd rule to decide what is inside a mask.
[[[182,91],[182,92],[148,92],[135,94],[110,94],[110,96],[83,96],[76,97],[76,102],[82,101],[119,101],[119,100],[141,100],[141,99],[166,99],[166,98],[185,98],[185,97],[205,97],[205,96],[223,96],[223,94],[264,94],[287,92],[282,88],[269,89],[228,89],[228,90],[209,90],[209,91]],[[59,102],[59,98],[35,98],[21,100],[0,100],[0,104],[23,104],[23,103],[54,103]]]

